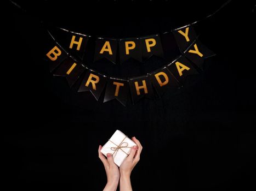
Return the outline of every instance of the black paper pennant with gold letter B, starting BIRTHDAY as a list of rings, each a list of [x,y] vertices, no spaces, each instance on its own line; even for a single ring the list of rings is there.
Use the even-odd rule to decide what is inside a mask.
[[[52,43],[49,43],[46,49],[47,50],[45,50],[46,52],[44,59],[47,60],[49,64],[49,70],[50,72],[52,72],[56,67],[61,64],[62,61],[64,61],[68,57],[68,55],[65,50],[63,50],[61,46],[59,46],[54,41],[52,41]]]

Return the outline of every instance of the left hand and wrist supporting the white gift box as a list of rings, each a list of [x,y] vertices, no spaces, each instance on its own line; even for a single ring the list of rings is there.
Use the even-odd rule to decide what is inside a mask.
[[[99,158],[101,162],[103,162],[106,175],[107,175],[107,184],[104,188],[104,191],[112,191],[116,190],[120,178],[120,171],[118,169],[118,166],[114,163],[113,157],[111,153],[107,153],[107,159],[103,155],[103,153],[100,152],[102,146],[99,146]]]

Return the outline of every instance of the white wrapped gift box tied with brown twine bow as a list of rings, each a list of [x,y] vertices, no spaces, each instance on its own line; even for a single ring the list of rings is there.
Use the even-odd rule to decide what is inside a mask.
[[[116,165],[120,166],[123,160],[130,154],[133,146],[136,146],[135,142],[130,140],[120,130],[116,130],[109,141],[101,148],[100,152],[105,156],[107,156],[107,153],[111,153]]]

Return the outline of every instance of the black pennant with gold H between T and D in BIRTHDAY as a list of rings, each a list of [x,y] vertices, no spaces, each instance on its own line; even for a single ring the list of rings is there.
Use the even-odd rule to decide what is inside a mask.
[[[139,76],[129,79],[130,93],[132,94],[133,104],[141,98],[154,98],[153,88],[150,81],[150,76]]]

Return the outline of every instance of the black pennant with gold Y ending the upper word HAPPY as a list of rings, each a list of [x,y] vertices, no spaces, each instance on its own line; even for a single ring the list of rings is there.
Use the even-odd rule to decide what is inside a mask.
[[[173,34],[181,52],[186,50],[197,38],[196,32],[192,26],[176,29],[173,31]]]

